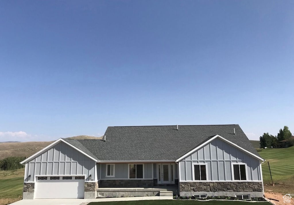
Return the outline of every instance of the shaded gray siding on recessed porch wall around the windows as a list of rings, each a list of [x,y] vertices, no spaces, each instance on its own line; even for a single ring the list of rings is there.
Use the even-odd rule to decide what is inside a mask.
[[[101,176],[100,179],[128,179],[128,165],[127,163],[108,163],[114,164],[114,177],[106,176],[106,164],[100,164],[101,167]],[[140,164],[140,163],[133,163]],[[144,164],[144,179],[152,179],[152,164],[145,163]],[[98,169],[98,168],[97,168]]]

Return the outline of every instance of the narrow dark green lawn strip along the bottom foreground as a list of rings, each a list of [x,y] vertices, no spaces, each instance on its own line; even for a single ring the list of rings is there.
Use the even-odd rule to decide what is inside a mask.
[[[269,202],[256,202],[259,205],[271,205]],[[256,204],[255,203],[255,204]],[[183,204],[183,205],[189,205],[189,204],[199,204],[199,205],[246,205],[251,204],[251,202],[247,201],[194,201],[194,200],[142,200],[142,201],[109,201],[109,202],[91,202],[88,205],[151,205],[151,204]]]

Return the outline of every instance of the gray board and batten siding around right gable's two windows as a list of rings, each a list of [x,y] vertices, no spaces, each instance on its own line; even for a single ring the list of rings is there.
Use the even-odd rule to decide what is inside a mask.
[[[179,162],[180,181],[193,180],[197,163],[207,164],[208,181],[233,181],[232,163],[246,164],[247,181],[261,181],[260,161],[218,138]]]

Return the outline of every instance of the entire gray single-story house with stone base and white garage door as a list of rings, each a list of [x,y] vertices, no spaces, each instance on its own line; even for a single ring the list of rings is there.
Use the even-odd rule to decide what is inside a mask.
[[[238,124],[113,126],[102,140],[58,139],[22,161],[23,199],[154,196],[162,190],[263,197],[264,161]]]

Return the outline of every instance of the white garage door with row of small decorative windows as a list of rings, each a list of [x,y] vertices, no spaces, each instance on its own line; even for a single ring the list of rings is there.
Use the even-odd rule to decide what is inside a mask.
[[[37,176],[35,199],[84,198],[85,176]]]

